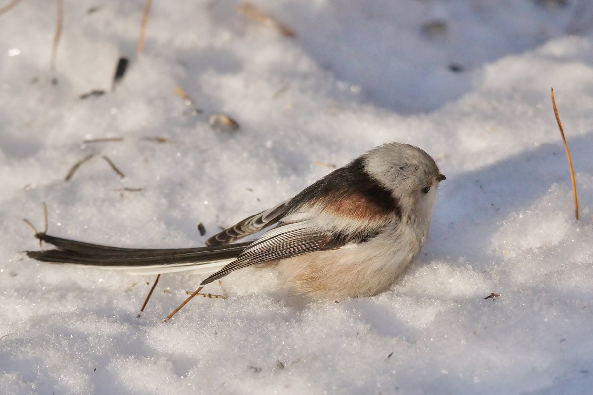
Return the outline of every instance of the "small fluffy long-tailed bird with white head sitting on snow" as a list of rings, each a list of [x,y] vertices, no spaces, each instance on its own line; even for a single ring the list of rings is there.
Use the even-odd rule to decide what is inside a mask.
[[[273,266],[296,293],[374,296],[387,290],[422,248],[445,178],[423,150],[387,143],[212,236],[205,247],[117,248],[37,233],[56,249],[27,255],[136,274],[214,272],[202,284],[247,266]],[[254,241],[232,243],[273,225]]]

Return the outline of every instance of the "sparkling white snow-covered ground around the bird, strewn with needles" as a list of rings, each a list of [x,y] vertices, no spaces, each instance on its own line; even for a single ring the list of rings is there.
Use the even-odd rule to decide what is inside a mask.
[[[258,0],[287,38],[237,5],[153,2],[136,56],[144,2],[65,2],[55,73],[53,2],[0,15],[0,393],[590,394],[593,7]],[[78,98],[93,89],[108,92]],[[240,130],[213,130],[212,112]],[[104,137],[124,140],[83,142]],[[302,304],[244,269],[205,289],[228,300],[163,324],[199,276],[164,275],[138,319],[152,276],[22,253],[43,201],[53,235],[200,245],[392,140],[448,179],[422,255],[377,297]]]

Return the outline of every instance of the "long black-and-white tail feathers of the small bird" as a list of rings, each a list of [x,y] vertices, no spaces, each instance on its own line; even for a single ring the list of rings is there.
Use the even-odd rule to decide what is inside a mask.
[[[56,247],[44,251],[26,252],[27,256],[37,261],[111,266],[113,269],[142,268],[143,266],[188,266],[188,269],[191,269],[191,266],[235,259],[251,244],[251,242],[245,242],[192,248],[122,248],[78,242],[46,233],[37,233],[35,237]]]

